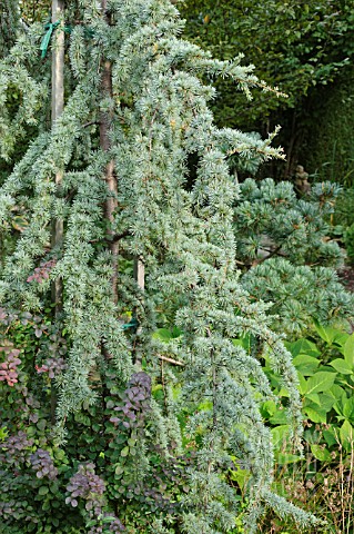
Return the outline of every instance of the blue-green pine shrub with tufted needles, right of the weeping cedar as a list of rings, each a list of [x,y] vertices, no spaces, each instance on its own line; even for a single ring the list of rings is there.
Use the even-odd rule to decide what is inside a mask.
[[[280,332],[297,336],[313,328],[314,317],[327,324],[353,315],[353,297],[335,270],[343,251],[326,222],[340,191],[335,184],[315,184],[299,197],[291,182],[271,178],[240,185],[234,230],[241,281],[252,298],[273,303]]]

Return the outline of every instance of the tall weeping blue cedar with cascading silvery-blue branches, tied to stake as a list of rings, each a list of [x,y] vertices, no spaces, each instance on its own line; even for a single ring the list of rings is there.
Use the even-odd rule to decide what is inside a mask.
[[[136,350],[152,379],[161,356],[176,358],[184,370],[170,379],[165,405],[154,402],[152,414],[162,449],[181,434],[176,419],[181,407],[193,412],[185,429],[190,439],[202,436],[184,497],[183,531],[226,533],[233,527],[236,495],[224,476],[232,457],[252,474],[247,533],[255,532],[264,504],[292,515],[300,525],[312,523],[312,516],[271,491],[271,435],[259,412],[271,389],[259,358],[266,352],[283,376],[299,445],[297,377],[281,336],[269,327],[267,306],[250,301],[235,264],[233,205],[239,187],[227,157],[237,154],[244,160],[265,161],[282,152],[271,146],[272,136],[260,140],[218,129],[208,107],[214,90],[205,80],[229,77],[249,98],[254,87],[271,89],[251,67],[241,66],[241,57],[218,61],[182,40],[183,23],[168,0],[111,0],[108,13],[97,2],[82,0],[77,9],[82,23],[71,31],[64,110],[51,130],[39,127],[0,191],[2,225],[18,202],[29,218],[4,261],[1,303],[40,310],[49,284],[63,281],[62,320],[70,350],[59,384],[57,435],[63,441],[67,417],[99,400],[90,373],[102,365],[102,347],[120,384],[139,370]],[[69,4],[68,22],[71,14]],[[39,111],[45,111],[45,75],[31,76],[40,33],[38,26],[31,27],[0,63],[0,101],[10,86],[22,93],[18,115],[2,117],[1,128],[9,132],[1,140],[7,157],[21,128],[36,123]],[[111,87],[102,91],[108,62]],[[100,147],[103,120],[109,142]],[[191,156],[198,161],[193,180]],[[104,179],[111,162],[117,190]],[[53,177],[62,170],[58,186]],[[108,204],[114,206],[109,216]],[[64,221],[65,233],[52,249],[55,219]],[[119,243],[115,256],[113,243]],[[29,284],[39,258],[48,257],[55,258],[49,279]],[[124,265],[132,257],[142,258],[145,266],[144,290],[123,268],[118,266],[114,275],[117,259]],[[122,328],[127,309],[134,310],[135,334]],[[152,334],[164,320],[183,335],[168,344],[159,342]],[[231,340],[244,334],[255,339],[251,354]],[[171,389],[173,383],[182,385],[179,395]],[[210,409],[198,408],[205,402]],[[138,457],[135,464],[142,469],[145,462]]]

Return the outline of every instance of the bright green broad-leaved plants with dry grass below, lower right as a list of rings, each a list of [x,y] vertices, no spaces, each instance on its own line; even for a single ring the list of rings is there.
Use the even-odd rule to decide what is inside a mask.
[[[353,531],[354,335],[318,324],[307,338],[287,345],[300,377],[304,415],[305,459],[292,454],[283,402],[265,403],[263,414],[272,427],[279,491],[326,520],[325,533]],[[282,397],[281,385],[270,372]],[[283,392],[286,396],[286,393]],[[293,532],[289,523],[269,514],[261,532]],[[312,531],[311,531],[312,532]],[[314,532],[322,532],[314,528]]]

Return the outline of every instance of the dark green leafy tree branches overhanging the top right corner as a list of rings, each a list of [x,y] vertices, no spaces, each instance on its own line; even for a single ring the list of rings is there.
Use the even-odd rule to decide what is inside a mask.
[[[284,100],[254,95],[240,115],[231,86],[221,82],[223,102],[218,103],[216,116],[223,125],[249,128],[252,120],[260,123],[270,116],[274,120],[275,110],[299,108],[313,88],[351,69],[352,0],[304,4],[267,0],[266,6],[254,0],[186,0],[181,9],[194,42],[223,59],[242,51],[247,63],[256,65],[267,82],[289,96]]]

